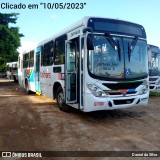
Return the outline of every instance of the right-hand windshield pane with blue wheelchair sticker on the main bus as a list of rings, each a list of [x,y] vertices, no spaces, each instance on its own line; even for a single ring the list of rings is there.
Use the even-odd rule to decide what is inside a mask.
[[[125,54],[125,75],[127,79],[145,77],[148,74],[147,43],[137,40],[134,50],[128,55],[129,44],[132,39],[123,38]]]

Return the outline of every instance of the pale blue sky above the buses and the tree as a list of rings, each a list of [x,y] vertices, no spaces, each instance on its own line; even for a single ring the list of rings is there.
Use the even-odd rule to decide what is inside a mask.
[[[48,7],[53,3],[85,5],[83,9],[49,9],[40,3]],[[11,9],[9,6],[13,4],[21,4],[25,8]],[[31,4],[36,4],[38,8],[29,9]],[[146,30],[148,44],[160,47],[160,0],[1,0],[0,12],[20,14],[15,24],[24,34],[19,52],[60,32],[84,16],[115,18],[141,24]]]

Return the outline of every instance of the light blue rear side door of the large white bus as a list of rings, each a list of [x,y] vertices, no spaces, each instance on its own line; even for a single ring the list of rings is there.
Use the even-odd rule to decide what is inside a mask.
[[[35,84],[36,84],[36,94],[41,94],[40,87],[40,48],[36,51],[36,63],[35,63]]]

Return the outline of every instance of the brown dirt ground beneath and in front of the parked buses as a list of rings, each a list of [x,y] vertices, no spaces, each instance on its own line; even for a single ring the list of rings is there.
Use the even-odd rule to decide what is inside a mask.
[[[160,151],[160,97],[150,97],[147,107],[65,113],[52,99],[26,95],[18,84],[0,79],[0,150]]]

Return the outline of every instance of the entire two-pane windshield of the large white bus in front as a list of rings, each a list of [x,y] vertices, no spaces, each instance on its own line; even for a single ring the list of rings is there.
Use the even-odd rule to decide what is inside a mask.
[[[88,71],[97,79],[133,80],[148,76],[147,43],[137,40],[130,51],[133,38],[113,36],[119,44],[116,50],[105,35],[93,35],[94,50],[88,51]]]

